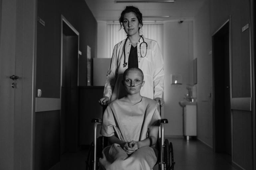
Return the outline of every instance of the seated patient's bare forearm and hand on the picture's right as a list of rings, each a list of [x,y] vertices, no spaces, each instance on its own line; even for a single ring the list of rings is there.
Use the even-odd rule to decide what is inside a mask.
[[[143,146],[152,146],[156,144],[157,142],[157,137],[158,137],[158,126],[153,126],[153,128],[149,132],[149,137],[143,141],[131,141],[129,143],[129,146],[135,150],[137,150],[140,147]]]

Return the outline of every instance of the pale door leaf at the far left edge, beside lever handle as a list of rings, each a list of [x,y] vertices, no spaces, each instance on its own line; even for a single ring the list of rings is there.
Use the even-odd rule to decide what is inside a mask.
[[[14,168],[14,92],[9,76],[15,74],[16,1],[1,3],[0,58],[0,164],[3,169]],[[3,27],[5,26],[5,27]],[[19,75],[20,76],[20,75]],[[9,148],[6,149],[6,148]]]

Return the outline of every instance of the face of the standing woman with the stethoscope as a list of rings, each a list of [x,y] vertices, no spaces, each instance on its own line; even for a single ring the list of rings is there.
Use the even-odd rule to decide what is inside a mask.
[[[128,36],[139,34],[139,20],[133,12],[124,14],[123,27]]]

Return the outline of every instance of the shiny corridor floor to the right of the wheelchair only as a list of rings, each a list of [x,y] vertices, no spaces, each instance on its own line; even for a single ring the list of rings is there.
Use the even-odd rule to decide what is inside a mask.
[[[231,156],[213,153],[210,147],[198,140],[168,140],[173,143],[175,170],[236,170],[231,166]]]

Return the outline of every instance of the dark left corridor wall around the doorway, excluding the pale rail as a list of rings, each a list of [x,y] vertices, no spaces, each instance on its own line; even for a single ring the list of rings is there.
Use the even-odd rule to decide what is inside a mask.
[[[61,15],[79,32],[79,85],[87,84],[87,45],[91,57],[96,54],[97,22],[84,0],[38,0],[37,13],[45,26],[37,24],[35,89],[41,97],[60,98]],[[36,112],[35,120],[35,170],[60,166],[60,110]]]

